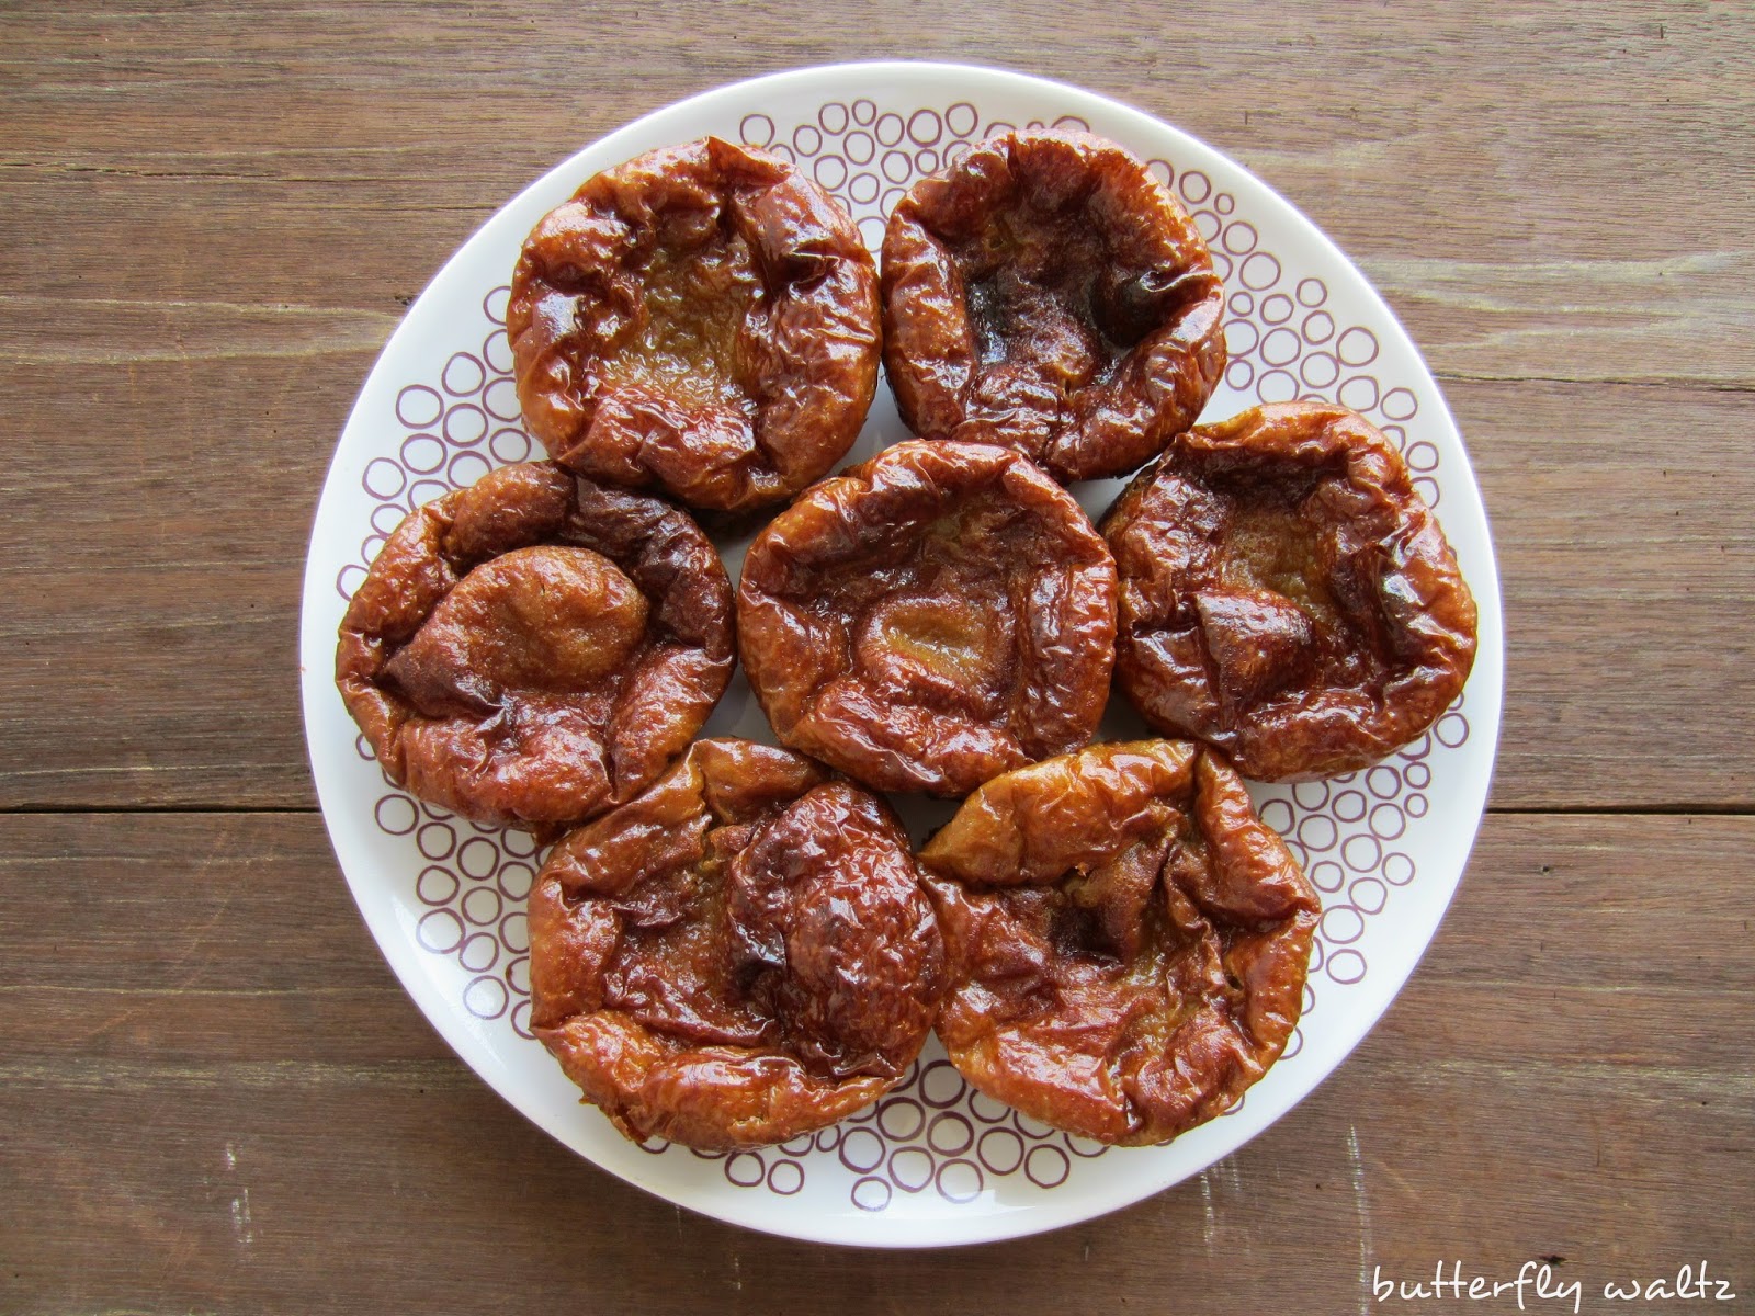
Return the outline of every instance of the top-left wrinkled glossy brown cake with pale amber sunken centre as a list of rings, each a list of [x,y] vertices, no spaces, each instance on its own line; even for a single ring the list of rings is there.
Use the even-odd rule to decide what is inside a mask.
[[[878,386],[878,272],[783,160],[707,137],[588,179],[530,232],[505,332],[549,456],[691,507],[788,498]]]

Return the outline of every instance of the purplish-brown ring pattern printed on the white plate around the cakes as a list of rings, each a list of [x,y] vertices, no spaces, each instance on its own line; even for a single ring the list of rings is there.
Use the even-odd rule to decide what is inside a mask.
[[[879,107],[874,100],[858,98],[853,102],[825,102],[813,114],[795,121],[776,112],[749,114],[744,116],[741,126],[727,125],[727,132],[735,130],[746,142],[776,149],[777,154],[809,163],[813,170],[821,167],[830,177],[837,170],[844,170],[844,181],[837,184],[825,182],[823,186],[848,205],[858,223],[860,235],[869,247],[876,249],[883,242],[886,214],[883,205],[885,190],[892,190],[890,204],[902,191],[897,182],[888,179],[879,181],[883,160],[907,135],[907,121],[920,111],[930,111],[935,116],[939,139],[918,149],[935,149],[941,161],[955,160],[969,149],[971,142],[995,132],[1004,132],[1006,128],[1042,126],[1044,123],[1090,128],[1085,119],[1076,116],[1034,119],[1016,125],[1007,119],[986,116],[971,102],[930,107]],[[893,139],[890,146],[878,142],[876,128],[879,118],[885,119],[885,137]],[[930,119],[921,121],[923,135],[930,137]],[[800,153],[792,142],[797,130],[806,125],[814,125],[821,139],[816,140],[806,135],[802,146],[814,146],[816,149]],[[1408,421],[1429,411],[1429,402],[1408,388],[1388,384],[1378,374],[1376,367],[1381,346],[1372,330],[1365,325],[1337,319],[1330,307],[1329,286],[1318,277],[1286,270],[1279,256],[1262,246],[1258,230],[1248,221],[1248,211],[1239,212],[1236,197],[1216,190],[1206,174],[1193,168],[1178,170],[1172,161],[1164,158],[1148,158],[1146,165],[1164,182],[1171,182],[1176,188],[1178,197],[1188,207],[1195,223],[1200,225],[1200,232],[1213,251],[1213,263],[1227,284],[1227,346],[1230,365],[1227,367],[1225,384],[1218,398],[1220,405],[1213,409],[1214,414],[1220,411],[1228,414],[1228,411],[1237,411],[1255,402],[1286,402],[1292,398],[1341,402],[1365,414],[1379,430],[1390,435],[1397,447],[1402,447],[1408,465],[1415,472],[1415,488],[1420,490],[1429,505],[1437,507],[1441,502],[1441,456],[1430,444],[1409,444],[1406,430]],[[920,167],[911,158],[911,170],[904,174],[902,182],[913,182],[920,174]],[[1250,256],[1262,256],[1262,260],[1250,265],[1248,283],[1244,283],[1241,267]],[[407,379],[397,395],[395,405],[386,414],[374,418],[390,439],[384,444],[384,454],[369,461],[360,476],[362,491],[370,500],[372,511],[360,526],[358,560],[342,567],[335,579],[335,590],[340,598],[353,597],[353,590],[365,579],[365,569],[376,556],[377,547],[381,547],[384,535],[395,528],[411,505],[470,483],[491,467],[541,456],[541,449],[525,433],[518,419],[511,346],[505,340],[505,302],[509,291],[505,284],[484,288],[479,314],[470,321],[456,325],[456,347],[453,354],[444,363],[435,363],[430,374]],[[1283,361],[1283,347],[1274,347],[1274,358],[1283,361],[1276,365],[1264,358],[1262,342],[1269,332],[1281,326],[1290,326],[1297,333],[1299,354],[1290,361]],[[1276,344],[1285,344],[1285,339],[1278,339]],[[469,388],[476,379],[477,368],[481,370],[481,384]],[[449,388],[446,384],[448,377]],[[1395,412],[1393,416],[1385,409],[1385,404]],[[423,442],[414,444],[411,449],[411,440]],[[1465,702],[1467,691],[1458,697],[1457,704],[1427,735],[1365,772],[1353,772],[1322,783],[1300,783],[1295,788],[1267,786],[1251,791],[1257,797],[1262,821],[1286,839],[1288,849],[1304,865],[1311,883],[1322,893],[1325,911],[1343,905],[1351,907],[1358,914],[1360,923],[1369,928],[1374,921],[1393,916],[1397,898],[1418,886],[1420,874],[1408,849],[1400,848],[1397,840],[1385,840],[1378,833],[1406,833],[1427,816],[1432,807],[1434,790],[1441,790],[1441,783],[1430,763],[1432,756],[1446,749],[1462,747],[1469,740]],[[363,760],[372,758],[363,739],[358,742],[358,753]],[[1378,805],[1383,807],[1376,814],[1376,830],[1371,825],[1371,812],[1353,823],[1336,816],[1334,805],[1348,791],[1365,795],[1372,802],[1372,811]],[[1379,795],[1379,791],[1383,793]],[[1341,807],[1351,812],[1351,805],[1353,802],[1348,798]],[[504,988],[505,998],[511,1002],[507,1011],[498,1016],[490,1014],[488,1018],[495,1023],[504,1021],[519,1037],[532,1039],[528,1028],[528,951],[523,949],[526,942],[519,937],[516,925],[511,932],[504,928],[497,930],[495,939],[498,946],[495,948],[493,967],[481,972],[469,970],[463,962],[463,942],[472,932],[463,933],[456,941],[449,933],[460,926],[474,926],[463,916],[462,898],[476,879],[462,876],[449,862],[428,860],[416,849],[414,842],[416,833],[423,826],[433,825],[437,826],[433,826],[432,835],[441,842],[432,846],[433,849],[444,849],[446,837],[449,837],[448,853],[455,853],[465,840],[484,839],[500,853],[500,870],[488,881],[498,886],[500,872],[505,872],[507,888],[518,890],[521,881],[528,881],[523,870],[528,869],[532,876],[535,872],[532,856],[516,851],[516,848],[530,844],[530,837],[516,830],[483,830],[465,819],[435,816],[439,811],[428,811],[426,805],[411,800],[407,793],[397,790],[388,781],[384,781],[383,793],[374,800],[374,809],[381,819],[377,826],[407,848],[409,862],[398,881],[404,883],[409,904],[423,909],[425,914],[448,911],[456,918],[456,923],[449,919],[437,921],[433,925],[437,935],[430,942],[426,939],[419,942],[423,951],[455,967],[455,981],[458,983],[455,988],[456,998],[476,1018],[483,1016],[476,1012],[470,1002],[491,1011]],[[1329,826],[1311,823],[1313,818],[1327,818]],[[1307,828],[1309,840],[1300,839],[1306,823],[1311,823]],[[1381,855],[1374,872],[1350,867],[1350,863],[1358,865],[1374,855]],[[421,874],[428,867],[439,867],[449,877],[433,876],[426,879],[426,886],[421,886]],[[451,879],[456,881],[455,893],[451,891]],[[1381,883],[1381,905],[1378,904],[1379,890],[1369,884],[1367,879]],[[1355,904],[1353,888],[1362,881],[1365,884],[1360,886],[1358,902]],[[419,891],[426,891],[437,904],[419,895]],[[1336,923],[1343,925],[1346,919],[1339,918]],[[1346,932],[1348,926],[1341,930]],[[481,963],[484,960],[486,944],[477,941],[474,942],[470,962]],[[1357,942],[1330,946],[1327,930],[1318,926],[1309,977],[1304,986],[1304,1018],[1307,1019],[1314,1011],[1322,1009],[1330,995],[1344,995],[1348,988],[1358,984],[1367,976],[1369,963]],[[470,993],[472,988],[474,995]],[[1279,1063],[1295,1062],[1300,1044],[1302,1032],[1295,1030],[1286,1042]],[[792,1162],[797,1165],[800,1184],[806,1183],[806,1176],[828,1176],[834,1183],[842,1184],[842,1191],[846,1191],[848,1200],[855,1205],[863,1211],[881,1212],[892,1202],[913,1197],[888,1176],[890,1155],[904,1146],[925,1148],[941,1169],[956,1160],[972,1160],[981,1169],[981,1183],[986,1190],[1004,1184],[1032,1184],[1041,1188],[1046,1183],[1055,1183],[1060,1160],[1053,1151],[1067,1156],[1069,1174],[1076,1174],[1086,1156],[1135,1155],[1127,1149],[1111,1151],[1095,1142],[1083,1144],[1079,1139],[1069,1139],[1046,1126],[1032,1128],[1032,1121],[1021,1116],[1014,1118],[1014,1112],[986,1104],[986,1098],[972,1093],[962,1077],[956,1076],[951,1063],[935,1053],[937,1044],[930,1042],[928,1053],[916,1062],[913,1072],[885,1100],[920,1100],[928,1109],[960,1111],[972,1121],[976,1148],[985,1149],[985,1156],[969,1156],[967,1153],[962,1158],[944,1156],[932,1151],[930,1144],[921,1141],[892,1141],[876,1125],[878,1111],[883,1109],[881,1102],[878,1111],[855,1116],[835,1128],[821,1130],[818,1134],[820,1142],[814,1142],[811,1149],[804,1149],[800,1144],[765,1148],[756,1155],[756,1160],[763,1167],[762,1179],[755,1179],[749,1172],[751,1162],[730,1167],[725,1165],[728,1158],[716,1158],[727,1169],[725,1181],[753,1191],[779,1191],[779,1186],[790,1186],[793,1172],[786,1170],[779,1186],[770,1186],[767,1174],[777,1163]],[[942,1102],[941,1105],[932,1105],[927,1100],[928,1088]],[[1232,1112],[1237,1109],[1241,1107],[1232,1107]],[[855,1170],[837,1153],[839,1135],[851,1130],[870,1134],[870,1139],[860,1139],[862,1144],[876,1142],[876,1156],[862,1153],[855,1158],[860,1165],[869,1165],[869,1169]],[[1051,1148],[1051,1151],[1039,1151],[1044,1146]],[[670,1156],[700,1155],[674,1144],[655,1144],[646,1149],[653,1155]],[[858,1151],[858,1148],[855,1149]],[[1030,1162],[1030,1153],[1037,1153],[1034,1163]],[[732,1169],[735,1169],[735,1177]],[[934,1181],[930,1186],[921,1188],[920,1195],[939,1195],[955,1202],[953,1191],[962,1191],[958,1186],[962,1174],[963,1170],[960,1169],[949,1172],[949,1190]]]

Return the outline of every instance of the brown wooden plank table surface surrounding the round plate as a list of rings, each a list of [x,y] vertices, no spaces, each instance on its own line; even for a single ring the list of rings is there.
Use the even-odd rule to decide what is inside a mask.
[[[1750,9],[1072,11],[0,11],[0,1311],[1488,1312],[1374,1269],[1536,1258],[1755,1309]],[[293,688],[330,447],[451,249],[644,111],[892,53],[1304,207],[1443,381],[1509,632],[1492,812],[1360,1051],[1130,1211],[914,1255],[711,1223],[502,1104],[367,937]],[[1702,1258],[1736,1302],[1602,1297]]]

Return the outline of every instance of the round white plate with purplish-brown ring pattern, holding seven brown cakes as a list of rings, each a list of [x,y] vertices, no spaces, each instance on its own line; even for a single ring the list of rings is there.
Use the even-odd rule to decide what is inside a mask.
[[[1169,181],[1206,232],[1230,293],[1230,368],[1207,407],[1339,400],[1408,456],[1481,609],[1464,697],[1415,746],[1365,772],[1260,788],[1325,914],[1286,1056],[1227,1116],[1164,1148],[1104,1149],[971,1093],[934,1041],[892,1097],[779,1148],[704,1156],[635,1146],[577,1102],[528,1032],[525,895],[534,848],[395,790],[332,683],[335,628],[384,535],[412,507],[490,467],[541,456],[518,419],[502,318],[530,226],[588,175],[718,133],[788,154],[839,197],[876,249],[921,174],[1013,125],[1088,126]],[[888,388],[849,454],[907,437]],[[1076,493],[1093,514],[1120,481]],[[725,544],[735,579],[742,544]],[[1014,1237],[1135,1202],[1197,1174],[1285,1114],[1358,1044],[1432,939],[1481,818],[1504,676],[1499,579],[1457,426],[1415,344],[1302,214],[1239,165],[1088,91],[958,65],[802,68],[720,88],[588,146],[463,244],[391,335],[335,447],[305,567],[305,732],[335,853],[384,958],[456,1053],[579,1155],[672,1202],[772,1234],[863,1246]],[[1111,730],[1127,733],[1123,721]],[[737,677],[706,733],[772,739]],[[916,839],[946,811],[904,809]]]

